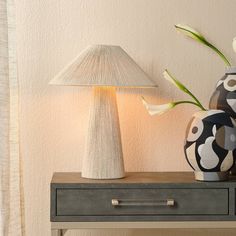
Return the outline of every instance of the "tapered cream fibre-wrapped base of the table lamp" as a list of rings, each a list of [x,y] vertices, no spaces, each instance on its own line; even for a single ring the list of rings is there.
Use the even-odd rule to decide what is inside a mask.
[[[82,177],[117,179],[124,176],[116,91],[111,87],[95,87]]]

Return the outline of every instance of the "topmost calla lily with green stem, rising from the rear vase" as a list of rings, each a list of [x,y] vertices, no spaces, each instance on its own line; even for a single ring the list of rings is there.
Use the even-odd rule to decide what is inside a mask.
[[[175,25],[175,28],[183,33],[184,35],[196,40],[199,43],[204,44],[205,46],[211,48],[213,51],[215,51],[220,57],[221,59],[225,62],[225,64],[227,66],[230,66],[230,62],[229,60],[225,57],[225,55],[218,49],[216,48],[213,44],[211,44],[210,42],[208,42],[206,40],[206,38],[199,33],[198,31],[196,31],[195,29],[191,28],[190,26],[187,25],[182,25],[182,24],[177,24]]]

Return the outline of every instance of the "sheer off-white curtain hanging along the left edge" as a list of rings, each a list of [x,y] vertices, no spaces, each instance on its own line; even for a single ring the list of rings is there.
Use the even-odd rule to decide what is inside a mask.
[[[14,0],[0,0],[0,236],[24,235]]]

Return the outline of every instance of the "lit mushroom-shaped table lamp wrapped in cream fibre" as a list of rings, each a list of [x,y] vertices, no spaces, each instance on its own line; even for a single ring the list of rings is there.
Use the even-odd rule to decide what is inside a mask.
[[[82,177],[124,177],[116,88],[156,85],[120,46],[111,45],[89,46],[50,84],[93,87]]]

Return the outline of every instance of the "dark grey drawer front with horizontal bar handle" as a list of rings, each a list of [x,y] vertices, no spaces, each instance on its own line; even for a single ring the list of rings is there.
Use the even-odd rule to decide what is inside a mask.
[[[56,189],[57,216],[227,215],[228,189]]]

